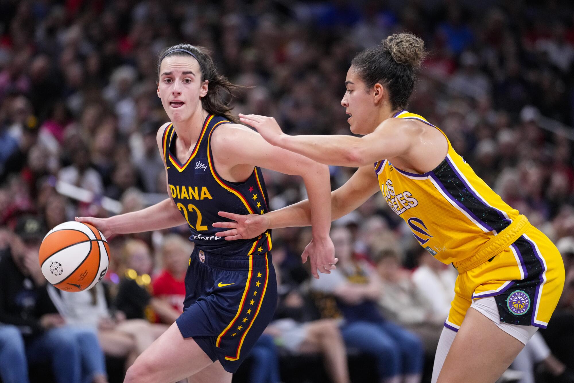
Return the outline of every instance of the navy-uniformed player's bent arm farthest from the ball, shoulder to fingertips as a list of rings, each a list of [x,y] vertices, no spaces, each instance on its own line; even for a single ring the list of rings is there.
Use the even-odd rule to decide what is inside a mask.
[[[335,268],[335,249],[329,238],[331,182],[327,166],[270,145],[257,132],[243,125],[226,124],[219,127],[211,137],[211,147],[216,155],[216,165],[220,163],[232,168],[241,159],[241,164],[300,175],[307,187],[313,228],[313,240],[305,248],[302,260],[305,262],[308,256],[311,257],[311,270],[316,278],[319,277],[317,268],[321,273],[329,273]]]

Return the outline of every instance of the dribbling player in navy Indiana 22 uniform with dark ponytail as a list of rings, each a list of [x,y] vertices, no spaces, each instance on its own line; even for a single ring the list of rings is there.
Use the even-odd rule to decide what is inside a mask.
[[[277,302],[271,231],[226,241],[212,223],[218,212],[265,214],[269,198],[258,166],[301,175],[312,206],[313,239],[302,254],[317,269],[335,268],[329,239],[328,167],[270,145],[235,123],[225,96],[235,89],[201,48],[180,44],[158,62],[158,97],[172,122],[157,132],[168,179],[166,200],[108,219],[76,220],[104,236],[187,223],[195,242],[185,277],[184,312],[127,370],[125,382],[231,382],[272,319]]]

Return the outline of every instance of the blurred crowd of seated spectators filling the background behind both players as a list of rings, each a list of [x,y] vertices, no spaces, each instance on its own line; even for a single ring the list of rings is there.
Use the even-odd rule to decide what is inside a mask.
[[[349,134],[340,98],[352,56],[409,31],[429,51],[409,109],[564,256],[563,298],[515,378],[572,381],[574,158],[567,135],[541,121],[574,125],[573,11],[558,0],[0,2],[0,378],[24,382],[30,366],[34,381],[44,365],[58,382],[121,381],[181,312],[185,227],[110,238],[106,280],[84,293],[46,286],[34,258],[57,224],[166,197],[162,48],[210,48],[246,86],[235,114],[273,116],[288,133]],[[352,171],[332,167],[333,189]],[[264,175],[273,209],[305,198],[300,179]],[[67,197],[62,185],[88,193]],[[310,238],[273,232],[276,320],[236,379],[428,381],[456,270],[422,251],[378,196],[333,225],[341,265],[319,281],[300,264]]]

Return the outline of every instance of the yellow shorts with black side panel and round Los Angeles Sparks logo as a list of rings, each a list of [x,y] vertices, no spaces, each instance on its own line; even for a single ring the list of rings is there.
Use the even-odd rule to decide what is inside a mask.
[[[472,300],[494,297],[501,322],[546,328],[563,287],[560,252],[530,226],[505,250],[459,274],[444,325],[458,331]]]

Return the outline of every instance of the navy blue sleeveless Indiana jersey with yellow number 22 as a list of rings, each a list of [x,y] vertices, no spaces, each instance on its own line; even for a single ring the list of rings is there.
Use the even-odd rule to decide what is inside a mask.
[[[230,123],[224,117],[207,116],[195,148],[185,163],[180,163],[175,153],[177,134],[173,124],[165,128],[162,147],[169,191],[189,224],[189,240],[195,242],[196,248],[227,256],[265,254],[272,247],[271,230],[255,239],[226,241],[215,235],[222,229],[212,226],[214,222],[227,221],[218,215],[220,211],[242,215],[269,211],[261,169],[255,167],[245,182],[226,181],[215,170],[211,135],[219,125]]]

